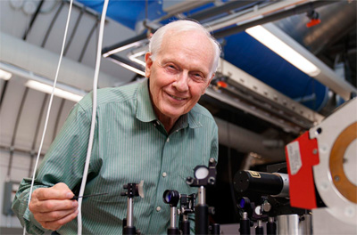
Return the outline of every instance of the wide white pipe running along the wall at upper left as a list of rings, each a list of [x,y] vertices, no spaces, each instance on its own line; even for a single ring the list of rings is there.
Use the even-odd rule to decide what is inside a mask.
[[[54,80],[59,55],[52,53],[37,45],[31,45],[20,38],[0,32],[0,61],[11,64],[20,69],[34,71],[41,77]],[[72,61],[62,59],[58,83],[71,85],[80,90],[91,91],[90,82],[95,74],[95,69]],[[119,82],[117,77],[101,72],[99,74],[99,87],[114,86]]]

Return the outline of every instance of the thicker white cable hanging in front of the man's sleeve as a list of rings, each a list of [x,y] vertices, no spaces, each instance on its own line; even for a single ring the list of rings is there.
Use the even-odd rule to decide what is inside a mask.
[[[100,28],[99,28],[98,45],[96,47],[97,51],[96,51],[96,61],[95,61],[95,78],[93,81],[92,122],[91,122],[91,126],[90,126],[86,165],[85,165],[84,171],[83,171],[83,178],[82,178],[82,182],[80,184],[79,199],[78,199],[78,202],[79,202],[79,215],[77,217],[77,222],[78,222],[77,234],[78,235],[82,234],[82,212],[81,212],[82,197],[81,196],[83,196],[84,189],[86,187],[89,161],[90,161],[90,156],[92,154],[93,139],[94,139],[94,135],[95,135],[96,87],[98,85],[99,68],[100,68],[100,62],[101,62],[101,58],[102,58],[102,42],[103,42],[103,34],[104,34],[104,22],[105,22],[105,15],[106,15],[106,9],[108,7],[108,2],[109,2],[109,0],[104,1],[102,17],[101,17],[101,22],[100,22]]]

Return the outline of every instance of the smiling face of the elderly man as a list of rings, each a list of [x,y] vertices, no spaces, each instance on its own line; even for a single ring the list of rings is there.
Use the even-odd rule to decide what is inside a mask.
[[[150,55],[145,55],[145,76],[155,113],[160,120],[176,121],[195,106],[212,80],[212,44],[195,31],[167,32],[155,61]]]

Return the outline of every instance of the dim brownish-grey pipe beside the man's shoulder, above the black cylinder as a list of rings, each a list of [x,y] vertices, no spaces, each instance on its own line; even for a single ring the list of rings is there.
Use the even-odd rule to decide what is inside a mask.
[[[220,118],[214,118],[214,120],[218,126],[220,144],[228,146],[229,148],[235,149],[239,152],[255,152],[261,155],[265,162],[278,162],[285,160],[284,146],[270,148],[266,144],[267,138],[261,134],[255,134],[245,128],[233,125]]]

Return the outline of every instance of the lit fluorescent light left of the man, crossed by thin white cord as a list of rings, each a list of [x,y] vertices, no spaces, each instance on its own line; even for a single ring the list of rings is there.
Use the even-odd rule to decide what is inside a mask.
[[[46,85],[43,83],[39,83],[37,81],[34,80],[29,80],[26,82],[26,86],[28,86],[29,88],[35,89],[37,91],[43,92],[43,93],[52,93],[53,90],[53,86],[51,85]],[[70,92],[66,92],[62,89],[59,88],[54,88],[54,95],[61,97],[63,99],[66,100],[70,100],[70,101],[75,101],[78,102],[82,99],[83,96],[79,95],[79,94],[75,94],[75,93],[70,93]]]

